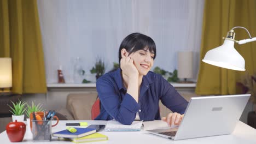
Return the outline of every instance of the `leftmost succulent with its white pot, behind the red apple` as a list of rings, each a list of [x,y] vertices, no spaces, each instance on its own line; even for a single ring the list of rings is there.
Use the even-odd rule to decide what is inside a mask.
[[[13,103],[13,101],[11,101],[11,103]],[[24,112],[26,111],[26,102],[25,101],[21,101],[19,100],[18,102],[13,103],[13,106],[10,106],[10,112],[13,113],[13,115],[11,116],[13,118],[13,122],[15,122],[15,120],[17,120],[18,122],[23,122],[24,121]]]

